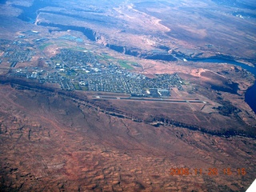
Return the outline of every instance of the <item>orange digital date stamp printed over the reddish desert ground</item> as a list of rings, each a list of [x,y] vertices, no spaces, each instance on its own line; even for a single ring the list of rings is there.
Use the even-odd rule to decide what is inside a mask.
[[[171,168],[170,169],[170,175],[209,175],[209,176],[218,176],[219,174],[224,175],[246,175],[246,169],[245,168],[237,168],[237,169],[231,169],[231,168],[224,168],[224,169],[217,169],[217,168],[208,168],[208,169],[202,169],[202,168],[196,168],[196,169],[189,169],[189,168]]]

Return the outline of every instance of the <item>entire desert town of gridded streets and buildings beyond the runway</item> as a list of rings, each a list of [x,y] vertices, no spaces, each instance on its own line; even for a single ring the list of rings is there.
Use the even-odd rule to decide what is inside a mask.
[[[105,91],[154,98],[170,96],[172,87],[183,90],[183,82],[178,74],[156,74],[156,78],[147,78],[122,66],[102,64],[98,56],[90,51],[62,49],[54,58],[45,61],[51,67],[47,71],[31,66],[16,68],[17,62],[30,61],[34,53],[29,49],[16,50],[13,46],[20,46],[20,42],[13,42],[9,48],[5,47],[0,57],[0,62],[5,58],[10,62],[10,67],[13,68],[10,75],[37,79],[41,83],[58,83],[63,90]]]

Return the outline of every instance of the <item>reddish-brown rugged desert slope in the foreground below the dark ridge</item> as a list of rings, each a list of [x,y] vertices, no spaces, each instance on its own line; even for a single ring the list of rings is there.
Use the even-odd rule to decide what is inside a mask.
[[[182,165],[246,167],[236,183],[252,182],[253,139],[118,118],[81,95],[0,88],[1,190],[234,190],[222,174],[170,175]]]

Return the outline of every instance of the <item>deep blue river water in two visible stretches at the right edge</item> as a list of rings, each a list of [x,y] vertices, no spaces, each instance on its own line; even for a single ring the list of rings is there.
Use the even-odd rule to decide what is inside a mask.
[[[214,63],[228,63],[234,66],[241,66],[244,70],[250,71],[250,73],[254,74],[256,78],[256,67],[247,66],[242,62],[235,62],[228,59],[219,59],[219,58],[206,58],[206,59],[188,59],[188,61],[193,62],[214,62]],[[254,82],[254,86],[251,86],[248,90],[246,90],[246,102],[250,106],[254,113],[256,114],[256,82]]]

